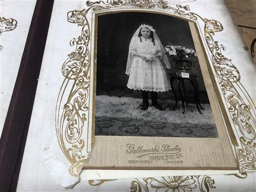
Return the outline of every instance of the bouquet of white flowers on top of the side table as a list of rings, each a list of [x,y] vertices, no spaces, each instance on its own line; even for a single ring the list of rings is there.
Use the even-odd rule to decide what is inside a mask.
[[[165,46],[165,51],[168,58],[177,57],[179,60],[183,58],[196,57],[196,52],[192,49],[183,46],[168,44]]]

